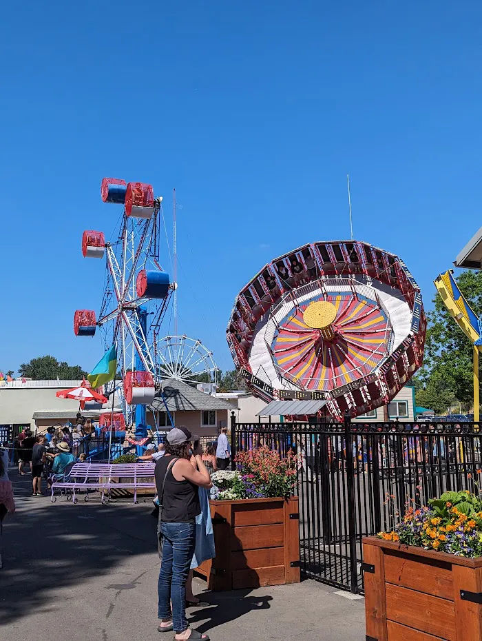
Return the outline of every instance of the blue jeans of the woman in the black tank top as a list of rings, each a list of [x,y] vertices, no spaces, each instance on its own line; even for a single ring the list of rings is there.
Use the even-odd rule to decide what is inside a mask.
[[[161,523],[163,560],[158,581],[158,618],[171,616],[176,633],[187,630],[186,581],[196,547],[196,524]]]

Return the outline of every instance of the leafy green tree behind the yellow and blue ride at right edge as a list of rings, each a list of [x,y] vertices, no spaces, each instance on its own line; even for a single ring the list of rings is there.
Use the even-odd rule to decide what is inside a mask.
[[[482,314],[482,273],[461,272],[455,280],[477,316]],[[440,412],[454,401],[472,405],[472,343],[438,294],[428,313],[423,367],[414,378],[417,405]]]

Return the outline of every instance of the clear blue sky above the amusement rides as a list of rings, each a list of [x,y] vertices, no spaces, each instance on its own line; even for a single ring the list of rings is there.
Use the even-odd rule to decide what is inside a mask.
[[[244,283],[349,237],[347,172],[355,238],[399,254],[428,307],[482,224],[480,3],[19,0],[2,22],[3,371],[100,358],[72,319],[101,303],[81,234],[118,219],[103,176],[166,210],[176,187],[179,329],[222,369]]]

